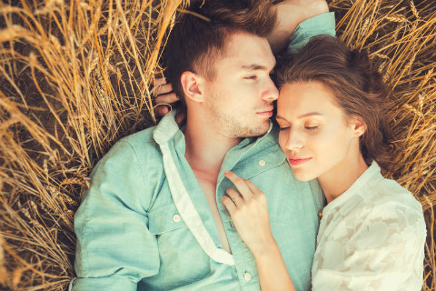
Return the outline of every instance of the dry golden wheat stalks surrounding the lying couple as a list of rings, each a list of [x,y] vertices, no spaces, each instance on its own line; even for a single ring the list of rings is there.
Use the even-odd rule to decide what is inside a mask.
[[[64,290],[87,176],[116,140],[154,125],[154,72],[188,0],[12,3],[0,4],[0,289]],[[330,5],[342,40],[367,50],[389,85],[396,148],[387,174],[425,210],[423,290],[434,290],[436,5]]]

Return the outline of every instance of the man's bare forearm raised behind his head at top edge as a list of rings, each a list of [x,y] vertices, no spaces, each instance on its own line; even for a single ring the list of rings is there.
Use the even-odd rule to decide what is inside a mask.
[[[277,22],[267,37],[274,54],[289,44],[293,31],[304,20],[329,12],[325,0],[285,0],[274,5],[274,8],[277,10]]]

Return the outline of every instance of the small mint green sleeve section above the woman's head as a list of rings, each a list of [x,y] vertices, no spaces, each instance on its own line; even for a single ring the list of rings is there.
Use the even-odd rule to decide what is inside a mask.
[[[291,36],[290,43],[287,48],[288,53],[295,53],[302,46],[306,45],[312,36],[316,35],[331,35],[336,36],[335,31],[336,21],[334,12],[316,15],[303,21],[295,28]]]

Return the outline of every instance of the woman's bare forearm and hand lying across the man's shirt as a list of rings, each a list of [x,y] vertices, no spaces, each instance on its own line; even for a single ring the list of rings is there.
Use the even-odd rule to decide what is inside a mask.
[[[227,189],[223,204],[232,216],[239,235],[253,253],[262,290],[295,290],[271,233],[263,192],[251,181],[232,172],[224,175],[233,182],[239,193],[232,188]]]

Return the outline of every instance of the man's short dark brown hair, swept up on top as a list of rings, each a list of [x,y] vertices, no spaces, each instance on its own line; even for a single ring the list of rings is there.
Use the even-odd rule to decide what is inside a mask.
[[[169,35],[163,59],[166,77],[183,100],[180,77],[185,71],[212,80],[214,64],[223,57],[229,36],[246,32],[266,37],[275,25],[276,13],[268,0],[196,1],[178,15]],[[200,15],[200,16],[199,16]],[[204,19],[206,17],[207,20]]]

